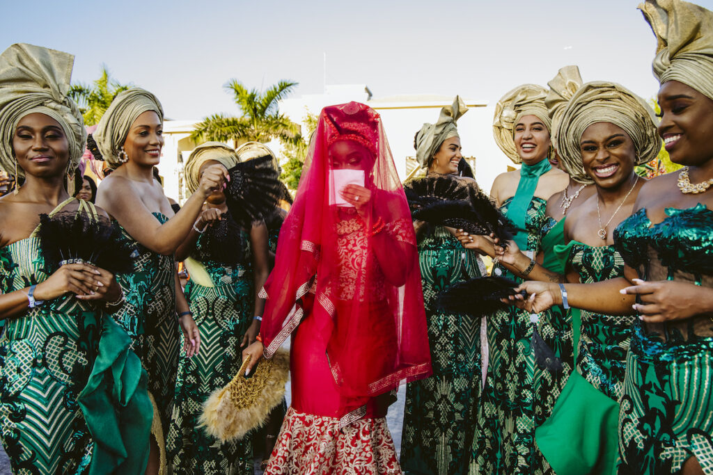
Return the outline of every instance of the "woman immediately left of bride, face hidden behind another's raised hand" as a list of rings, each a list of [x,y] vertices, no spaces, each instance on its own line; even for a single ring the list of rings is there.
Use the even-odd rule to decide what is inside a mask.
[[[218,142],[199,145],[185,164],[186,186],[193,192],[211,165],[230,169],[235,150]],[[197,429],[202,405],[240,369],[242,348],[255,341],[265,301],[257,298],[268,274],[267,228],[262,221],[240,222],[225,204],[225,194],[210,194],[188,239],[176,253],[190,273],[185,296],[193,313],[201,350],[178,362],[175,406],[167,450],[174,474],[252,474],[250,435],[217,441]],[[186,259],[189,258],[189,259]]]

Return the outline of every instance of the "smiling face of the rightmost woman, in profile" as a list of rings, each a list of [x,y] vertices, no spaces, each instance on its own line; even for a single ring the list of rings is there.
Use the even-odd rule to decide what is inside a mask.
[[[676,80],[659,89],[659,135],[672,162],[701,166],[713,157],[713,100]]]

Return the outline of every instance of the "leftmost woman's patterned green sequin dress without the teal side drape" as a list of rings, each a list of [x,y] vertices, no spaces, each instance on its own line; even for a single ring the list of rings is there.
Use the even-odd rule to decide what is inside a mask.
[[[0,291],[45,281],[39,239],[0,249]],[[77,404],[103,313],[62,296],[6,320],[0,340],[0,430],[16,474],[83,473],[94,447]]]

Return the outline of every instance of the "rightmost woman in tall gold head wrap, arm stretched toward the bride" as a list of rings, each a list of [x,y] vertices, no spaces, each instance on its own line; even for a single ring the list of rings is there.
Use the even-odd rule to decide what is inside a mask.
[[[572,306],[635,319],[620,402],[620,474],[713,472],[713,12],[684,1],[640,7],[657,37],[658,133],[685,165],[640,190],[615,230],[625,278],[566,284]],[[559,288],[525,283],[540,310]],[[624,295],[622,295],[624,294]]]

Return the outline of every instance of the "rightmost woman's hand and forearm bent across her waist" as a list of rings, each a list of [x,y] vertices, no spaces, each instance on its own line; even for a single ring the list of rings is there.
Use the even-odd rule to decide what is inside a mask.
[[[639,296],[641,303],[633,307],[646,323],[682,320],[713,311],[712,289],[675,281],[646,282],[635,278],[632,282],[636,285],[622,288],[620,292]]]

